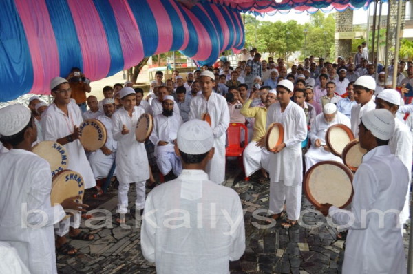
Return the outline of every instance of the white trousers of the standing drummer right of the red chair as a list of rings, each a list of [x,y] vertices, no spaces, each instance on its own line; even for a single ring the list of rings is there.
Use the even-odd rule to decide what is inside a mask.
[[[301,211],[302,186],[286,186],[284,182],[270,182],[270,208],[274,214],[281,213],[286,204],[288,219],[296,221]]]

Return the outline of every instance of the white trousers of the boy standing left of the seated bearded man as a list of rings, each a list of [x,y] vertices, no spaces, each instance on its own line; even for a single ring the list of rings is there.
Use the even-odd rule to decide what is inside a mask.
[[[127,193],[129,191],[129,186],[133,183],[129,182],[119,182],[118,189],[118,213],[127,213],[127,206],[129,204]],[[136,182],[136,209],[143,209],[145,207],[145,184],[146,181]]]

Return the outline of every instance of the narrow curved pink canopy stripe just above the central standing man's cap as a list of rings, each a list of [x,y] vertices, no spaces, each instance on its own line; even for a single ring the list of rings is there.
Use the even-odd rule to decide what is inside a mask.
[[[195,14],[191,12],[191,10],[188,10],[185,7],[182,8],[185,12],[187,12],[189,19],[191,19],[191,21],[193,22],[198,37],[198,52],[196,52],[194,56],[190,57],[192,59],[200,61],[207,60],[212,52],[211,39],[209,37],[209,34],[207,30],[205,30],[202,23],[195,16]]]

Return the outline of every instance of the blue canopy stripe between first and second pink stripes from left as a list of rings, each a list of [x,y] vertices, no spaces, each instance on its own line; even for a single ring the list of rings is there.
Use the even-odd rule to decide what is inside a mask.
[[[72,67],[83,70],[81,45],[67,1],[46,0],[59,51],[60,75],[66,77]]]

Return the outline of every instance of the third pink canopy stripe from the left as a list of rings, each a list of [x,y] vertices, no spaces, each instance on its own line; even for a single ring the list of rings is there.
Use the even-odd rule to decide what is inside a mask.
[[[118,25],[119,40],[125,60],[123,67],[133,67],[144,58],[138,23],[127,0],[109,0],[109,3],[114,9],[116,25]]]

